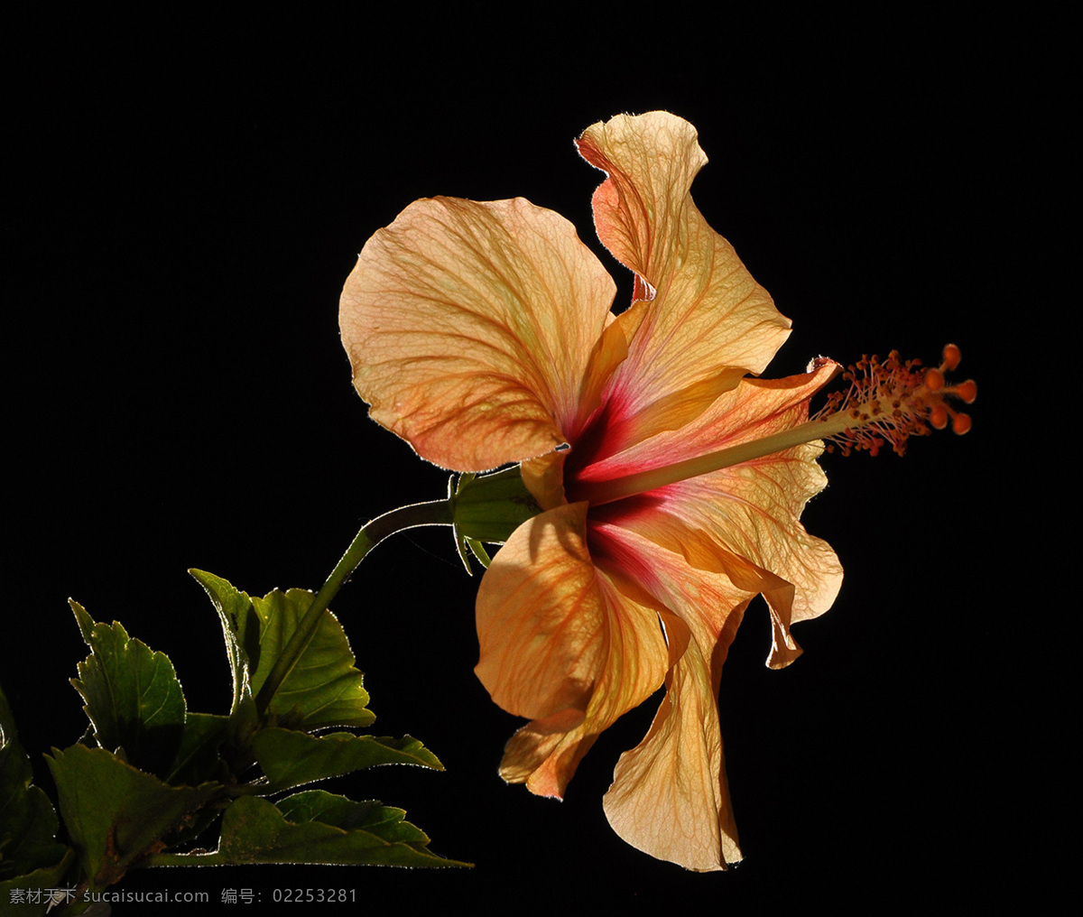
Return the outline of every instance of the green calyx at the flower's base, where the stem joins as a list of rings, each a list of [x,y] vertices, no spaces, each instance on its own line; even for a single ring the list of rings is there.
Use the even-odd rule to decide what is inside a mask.
[[[462,474],[457,483],[454,479],[448,482],[447,494],[455,520],[455,543],[468,571],[467,548],[483,566],[488,566],[483,542],[503,545],[520,525],[542,512],[518,464],[481,476]]]

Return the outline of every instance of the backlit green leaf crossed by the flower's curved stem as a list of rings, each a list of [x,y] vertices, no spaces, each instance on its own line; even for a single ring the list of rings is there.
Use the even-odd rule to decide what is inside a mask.
[[[235,708],[238,703],[244,706],[259,693],[314,595],[303,589],[275,589],[262,599],[250,599],[224,579],[191,573],[222,618],[234,665]],[[268,722],[305,731],[367,726],[376,720],[367,706],[368,693],[342,625],[324,612],[311,643],[271,698]]]

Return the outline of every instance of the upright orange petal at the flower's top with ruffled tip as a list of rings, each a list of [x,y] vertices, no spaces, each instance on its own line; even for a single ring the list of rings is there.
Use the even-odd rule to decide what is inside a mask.
[[[579,137],[604,171],[595,224],[610,251],[638,275],[644,300],[618,316],[628,358],[613,377],[624,443],[695,417],[745,372],[761,372],[790,320],[707,225],[689,194],[707,161],[695,129],[666,112],[619,115]]]

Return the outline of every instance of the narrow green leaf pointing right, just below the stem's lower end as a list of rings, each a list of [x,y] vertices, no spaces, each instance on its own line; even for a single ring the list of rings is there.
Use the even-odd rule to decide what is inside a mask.
[[[444,770],[436,756],[409,735],[392,738],[336,732],[315,736],[269,728],[257,733],[252,750],[270,781],[266,788],[261,787],[261,792],[289,789],[379,764],[418,764]]]

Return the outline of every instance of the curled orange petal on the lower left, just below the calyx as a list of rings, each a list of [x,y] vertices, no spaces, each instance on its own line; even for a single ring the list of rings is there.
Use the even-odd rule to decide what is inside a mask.
[[[500,773],[542,796],[563,795],[598,735],[667,668],[657,610],[591,563],[586,510],[564,506],[520,526],[478,592],[478,677],[504,709],[533,718]]]

